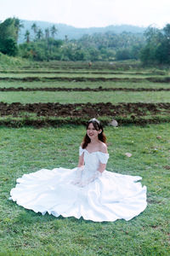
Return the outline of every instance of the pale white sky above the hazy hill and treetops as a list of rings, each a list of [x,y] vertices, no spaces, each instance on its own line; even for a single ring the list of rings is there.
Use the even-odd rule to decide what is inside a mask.
[[[42,20],[76,27],[170,23],[170,0],[0,0],[0,20]]]

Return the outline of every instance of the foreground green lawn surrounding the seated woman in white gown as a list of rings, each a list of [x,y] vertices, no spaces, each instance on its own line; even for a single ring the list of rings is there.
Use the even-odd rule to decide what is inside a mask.
[[[0,128],[0,255],[169,255],[168,124],[105,127],[107,170],[139,175],[147,186],[148,207],[128,222],[42,216],[8,201],[24,173],[77,166],[84,133],[84,127],[74,125]],[[127,152],[133,156],[127,158]]]

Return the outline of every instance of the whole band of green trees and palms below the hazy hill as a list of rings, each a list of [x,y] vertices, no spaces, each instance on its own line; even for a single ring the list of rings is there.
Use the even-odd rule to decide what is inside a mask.
[[[25,43],[17,44],[22,22],[8,18],[0,23],[0,52],[32,61],[115,61],[135,59],[144,64],[170,64],[170,24],[148,27],[142,33],[114,32],[84,35],[80,39],[56,39],[55,26],[44,31],[34,22],[26,30]]]

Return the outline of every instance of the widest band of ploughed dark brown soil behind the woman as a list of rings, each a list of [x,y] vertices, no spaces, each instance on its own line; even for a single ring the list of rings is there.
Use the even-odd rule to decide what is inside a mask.
[[[55,116],[55,117],[117,117],[131,119],[142,117],[144,115],[156,115],[157,113],[170,113],[170,103],[119,103],[116,105],[108,103],[29,103],[21,104],[14,102],[12,104],[0,102],[0,115],[13,115],[14,117],[23,116],[22,113],[37,113],[37,116]]]

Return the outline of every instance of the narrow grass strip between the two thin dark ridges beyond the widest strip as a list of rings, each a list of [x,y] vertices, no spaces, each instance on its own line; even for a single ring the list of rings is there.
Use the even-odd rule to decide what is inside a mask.
[[[24,87],[24,88],[39,88],[39,87],[63,87],[63,88],[97,88],[102,86],[103,88],[170,88],[170,84],[167,83],[150,83],[150,82],[140,82],[140,83],[131,83],[131,82],[67,82],[67,81],[34,81],[34,82],[22,82],[22,81],[0,81],[0,88],[8,87]]]

